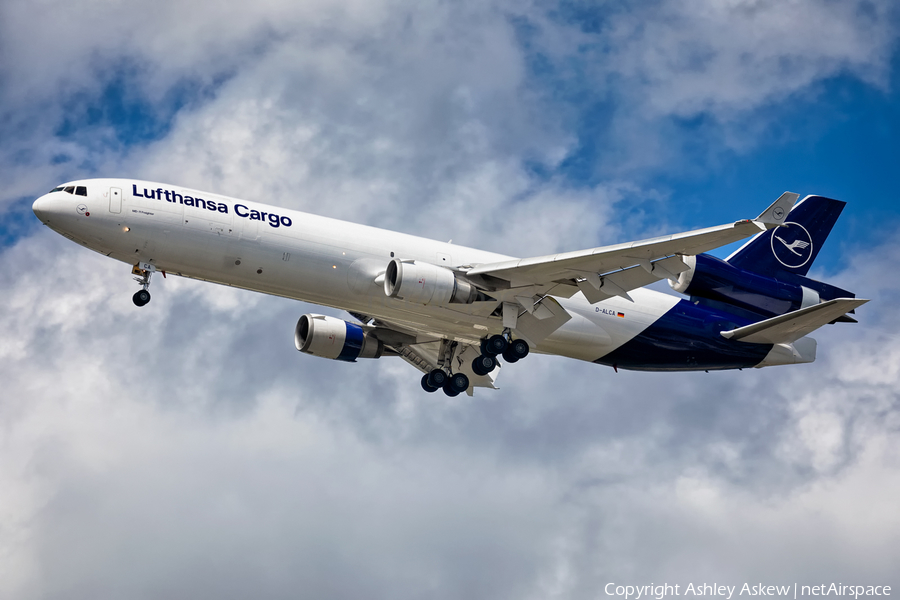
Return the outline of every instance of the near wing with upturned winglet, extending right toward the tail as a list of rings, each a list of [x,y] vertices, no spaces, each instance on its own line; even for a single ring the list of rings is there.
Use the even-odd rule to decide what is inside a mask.
[[[631,300],[629,290],[658,279],[675,278],[687,270],[681,256],[707,252],[778,227],[798,197],[785,192],[752,220],[589,250],[475,265],[464,272],[473,278],[507,282],[508,288],[540,286],[544,289],[537,292],[558,296],[581,290],[592,304],[612,296]]]

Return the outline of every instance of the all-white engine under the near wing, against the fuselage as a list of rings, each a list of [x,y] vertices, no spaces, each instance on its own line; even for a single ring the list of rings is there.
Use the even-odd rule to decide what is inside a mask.
[[[384,273],[384,293],[416,304],[471,304],[478,289],[450,269],[395,258]]]

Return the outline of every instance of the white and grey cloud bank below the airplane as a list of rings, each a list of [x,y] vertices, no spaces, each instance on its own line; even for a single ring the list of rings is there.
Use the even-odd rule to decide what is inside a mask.
[[[174,278],[138,320],[125,269],[49,232],[2,254],[0,595],[895,578],[900,382],[854,375],[895,350],[877,326],[761,371],[535,356],[449,400],[399,361],[298,354],[286,300]]]

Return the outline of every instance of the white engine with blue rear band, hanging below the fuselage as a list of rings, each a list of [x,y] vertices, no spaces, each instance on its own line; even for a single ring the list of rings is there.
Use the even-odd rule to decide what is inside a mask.
[[[384,344],[355,323],[325,315],[303,315],[294,329],[294,345],[300,352],[355,362],[357,358],[379,358]]]

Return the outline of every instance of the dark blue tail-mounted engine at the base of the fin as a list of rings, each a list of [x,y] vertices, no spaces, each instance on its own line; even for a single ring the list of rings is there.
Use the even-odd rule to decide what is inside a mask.
[[[676,292],[706,298],[749,310],[764,316],[787,312],[818,304],[834,298],[853,298],[854,294],[821,281],[794,275],[791,281],[781,281],[745,271],[709,256],[685,256],[687,271],[678,280],[669,280]]]

